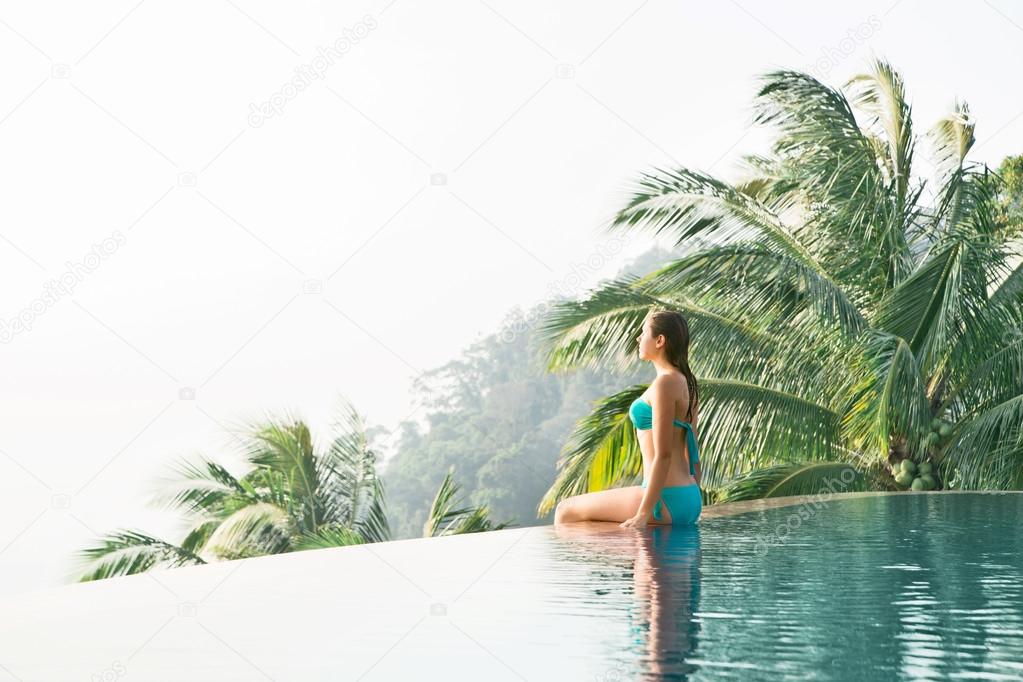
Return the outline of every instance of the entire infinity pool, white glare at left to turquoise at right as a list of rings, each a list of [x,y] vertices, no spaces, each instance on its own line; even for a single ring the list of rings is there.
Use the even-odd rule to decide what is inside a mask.
[[[1023,679],[1023,495],[704,512],[30,593],[0,603],[0,680]]]

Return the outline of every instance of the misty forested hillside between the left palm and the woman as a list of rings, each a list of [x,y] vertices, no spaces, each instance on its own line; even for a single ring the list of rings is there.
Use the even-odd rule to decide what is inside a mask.
[[[623,272],[646,274],[671,258],[654,248]],[[536,507],[554,481],[576,421],[589,413],[592,401],[653,378],[648,367],[634,374],[547,374],[534,329],[539,308],[511,311],[500,330],[416,385],[416,400],[430,406],[428,429],[402,423],[396,453],[383,471],[395,539],[421,535],[433,495],[452,465],[465,500],[490,505],[494,520],[550,522],[549,515],[536,517]]]

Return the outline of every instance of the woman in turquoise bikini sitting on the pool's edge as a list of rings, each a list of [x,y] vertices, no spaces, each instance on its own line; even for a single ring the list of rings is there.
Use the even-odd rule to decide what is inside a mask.
[[[657,371],[629,407],[642,453],[641,486],[575,495],[562,500],[554,524],[618,521],[622,528],[695,524],[703,510],[696,429],[697,378],[690,369],[690,328],[679,313],[655,311],[642,323],[639,359]],[[682,421],[680,416],[692,418]]]

